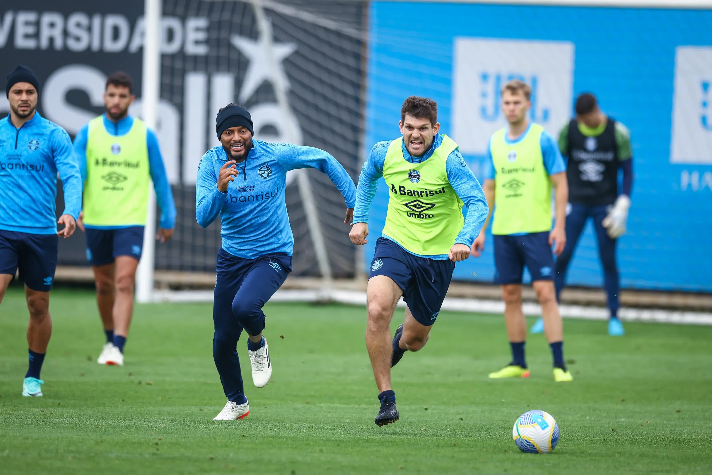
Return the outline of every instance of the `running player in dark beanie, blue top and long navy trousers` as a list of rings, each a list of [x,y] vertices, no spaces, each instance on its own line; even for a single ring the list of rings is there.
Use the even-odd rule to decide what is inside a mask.
[[[345,199],[345,223],[353,216],[356,187],[344,167],[323,150],[253,139],[251,115],[239,105],[219,110],[215,131],[221,145],[200,160],[195,216],[202,227],[220,216],[213,357],[228,401],[214,419],[233,420],[250,412],[236,351],[243,328],[254,385],[265,386],[272,375],[262,307],[292,271],[287,172],[316,168],[327,174]]]

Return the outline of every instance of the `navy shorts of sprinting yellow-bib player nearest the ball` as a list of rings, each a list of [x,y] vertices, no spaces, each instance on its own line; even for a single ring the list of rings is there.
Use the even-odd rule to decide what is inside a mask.
[[[422,325],[430,326],[440,313],[454,270],[455,263],[450,259],[414,256],[390,239],[380,237],[368,278],[392,278],[402,289],[410,313]]]

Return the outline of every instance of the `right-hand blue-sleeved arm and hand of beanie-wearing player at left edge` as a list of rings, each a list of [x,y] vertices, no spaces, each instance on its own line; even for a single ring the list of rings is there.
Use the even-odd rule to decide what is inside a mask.
[[[82,178],[72,141],[66,130],[58,127],[53,132],[51,147],[64,192],[64,211],[57,221],[58,224],[64,224],[64,228],[57,234],[68,238],[74,233],[75,222],[82,209]]]

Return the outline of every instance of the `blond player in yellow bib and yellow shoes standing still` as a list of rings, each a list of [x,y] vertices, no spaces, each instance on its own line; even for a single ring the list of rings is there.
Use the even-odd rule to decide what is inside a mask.
[[[504,321],[512,362],[491,378],[529,377],[524,356],[527,327],[522,311],[522,273],[529,270],[542,308],[544,330],[554,360],[554,380],[570,381],[563,356],[563,328],[556,301],[554,253],[566,244],[567,184],[564,160],[554,138],[527,119],[531,89],[520,80],[502,88],[502,110],[509,126],[495,132],[488,146],[484,190],[494,209],[495,281],[502,286]],[[551,229],[551,187],[555,188],[556,222]],[[496,207],[495,207],[496,203]],[[487,220],[489,220],[487,217]],[[487,221],[472,246],[480,256]]]

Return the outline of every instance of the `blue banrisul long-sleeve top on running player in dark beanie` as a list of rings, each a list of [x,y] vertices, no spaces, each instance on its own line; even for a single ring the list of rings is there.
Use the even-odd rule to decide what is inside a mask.
[[[246,160],[235,165],[238,176],[225,193],[217,187],[220,169],[228,161],[223,147],[208,150],[198,166],[195,217],[207,227],[220,215],[225,251],[244,259],[292,255],[294,237],[284,200],[289,170],[316,168],[324,172],[343,195],[346,207],[354,207],[356,187],[351,177],[324,150],[254,139],[252,143]]]

